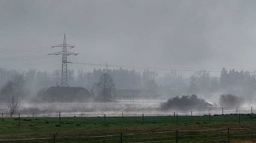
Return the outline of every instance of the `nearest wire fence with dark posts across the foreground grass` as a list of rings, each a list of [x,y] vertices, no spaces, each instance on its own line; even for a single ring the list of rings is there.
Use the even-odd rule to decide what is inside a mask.
[[[246,132],[241,132],[246,130]],[[219,128],[201,130],[175,130],[166,132],[146,132],[136,134],[116,134],[105,136],[80,136],[80,137],[52,137],[28,138],[28,139],[0,139],[0,142],[20,142],[28,140],[43,140],[48,143],[187,143],[189,142],[227,142],[237,138],[246,137],[255,139],[256,128]]]

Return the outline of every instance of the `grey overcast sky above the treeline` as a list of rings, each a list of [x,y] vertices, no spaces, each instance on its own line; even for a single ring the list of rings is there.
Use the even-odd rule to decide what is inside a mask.
[[[61,69],[66,33],[70,62],[254,70],[255,25],[255,0],[0,0],[0,67]]]

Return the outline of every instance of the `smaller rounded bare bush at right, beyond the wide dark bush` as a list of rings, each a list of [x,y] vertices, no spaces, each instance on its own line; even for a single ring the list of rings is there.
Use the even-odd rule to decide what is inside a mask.
[[[222,94],[219,104],[221,107],[240,107],[244,104],[244,98],[233,94]]]

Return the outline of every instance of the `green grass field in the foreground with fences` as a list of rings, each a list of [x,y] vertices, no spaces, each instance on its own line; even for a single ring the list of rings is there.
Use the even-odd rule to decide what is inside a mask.
[[[68,117],[61,126],[59,118],[0,118],[0,142],[54,143],[55,135],[55,143],[120,143],[122,133],[123,143],[176,143],[177,136],[178,143],[228,143],[228,135],[230,143],[256,143],[254,127],[255,114],[241,114],[240,120],[239,115]],[[32,138],[45,139],[3,140]]]

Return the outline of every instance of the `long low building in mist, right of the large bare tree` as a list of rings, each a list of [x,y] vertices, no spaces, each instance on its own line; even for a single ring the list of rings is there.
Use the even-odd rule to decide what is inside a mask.
[[[116,95],[118,95],[117,101],[157,101],[162,97],[154,90],[116,90]]]

